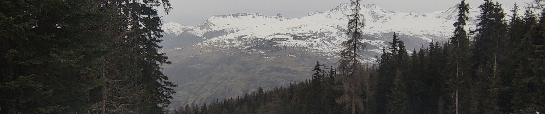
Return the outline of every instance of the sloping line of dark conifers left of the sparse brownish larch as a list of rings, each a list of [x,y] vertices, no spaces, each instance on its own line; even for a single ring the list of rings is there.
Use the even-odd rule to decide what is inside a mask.
[[[336,89],[337,71],[317,62],[310,81],[290,84],[288,87],[277,87],[264,91],[259,88],[244,97],[215,100],[209,104],[187,104],[176,110],[174,114],[227,114],[227,113],[341,113],[341,105],[336,99],[342,96],[342,91]],[[367,68],[374,72],[376,69]],[[376,75],[376,72],[371,75]]]

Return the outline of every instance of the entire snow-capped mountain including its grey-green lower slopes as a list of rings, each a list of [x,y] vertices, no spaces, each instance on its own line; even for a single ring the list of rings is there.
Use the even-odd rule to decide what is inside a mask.
[[[346,15],[352,13],[349,6],[342,3],[301,18],[257,13],[212,16],[191,29],[166,23],[163,29],[167,34],[203,39],[163,50],[173,62],[165,73],[181,85],[177,88],[178,103],[201,103],[239,96],[258,87],[270,89],[304,81],[317,59],[335,66],[337,52],[343,49],[340,44],[347,40]],[[361,8],[367,46],[362,56],[367,63],[375,62],[374,57],[388,46],[393,32],[409,51],[431,41],[446,41],[458,14],[456,6],[426,14],[387,11],[376,4]],[[504,7],[506,15],[511,15],[509,9]],[[468,30],[475,29],[478,15],[479,8],[470,7]]]

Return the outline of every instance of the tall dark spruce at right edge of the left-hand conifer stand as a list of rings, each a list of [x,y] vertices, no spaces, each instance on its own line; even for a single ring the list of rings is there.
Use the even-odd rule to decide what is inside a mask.
[[[165,53],[160,53],[163,30],[161,18],[158,16],[156,8],[162,6],[168,13],[172,9],[168,0],[153,1],[127,1],[128,9],[123,10],[128,18],[128,33],[126,42],[128,48],[135,58],[136,69],[140,72],[134,81],[137,85],[145,85],[144,94],[148,95],[138,106],[139,113],[164,113],[164,108],[170,104],[169,98],[174,93],[172,87],[175,85],[168,82],[168,77],[161,71],[161,65],[169,64]],[[198,108],[198,107],[197,107]]]

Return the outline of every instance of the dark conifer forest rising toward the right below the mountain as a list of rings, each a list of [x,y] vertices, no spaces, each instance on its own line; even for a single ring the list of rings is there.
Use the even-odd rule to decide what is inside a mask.
[[[359,4],[358,1],[352,3]],[[432,41],[428,47],[422,45],[419,50],[408,51],[394,33],[390,46],[377,57],[376,65],[358,66],[357,62],[352,62],[356,66],[350,69],[359,70],[342,73],[332,67],[325,69],[318,62],[311,81],[267,92],[259,89],[244,97],[222,102],[216,100],[204,105],[181,106],[171,112],[545,112],[545,12],[540,9],[542,7],[529,8],[525,14],[517,14],[520,9],[515,4],[510,9],[513,12],[511,20],[507,21],[501,4],[485,0],[479,6],[481,14],[477,18],[477,29],[467,31],[464,26],[469,19],[468,7],[465,1],[459,4],[458,19],[453,24],[455,31],[448,42]],[[347,49],[356,50],[358,41],[353,39],[352,43],[347,43],[353,47]],[[341,55],[341,58],[346,58],[346,53]],[[347,91],[346,84],[343,84],[346,76],[350,76],[347,74],[355,74],[348,78],[358,82],[356,87],[350,87],[361,90],[358,98],[346,98],[348,92],[354,91]],[[352,103],[346,102],[350,100]]]

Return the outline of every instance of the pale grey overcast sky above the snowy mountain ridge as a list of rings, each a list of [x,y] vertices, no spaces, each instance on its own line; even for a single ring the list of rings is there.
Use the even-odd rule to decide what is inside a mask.
[[[213,15],[254,13],[287,18],[299,18],[312,11],[325,11],[349,0],[171,0],[172,11],[163,16],[164,22],[177,22],[189,26],[200,24]],[[479,6],[482,0],[466,0],[471,6]],[[493,0],[494,1],[494,0]],[[496,0],[500,4],[526,6],[533,0]],[[377,4],[389,11],[428,13],[446,10],[459,0],[362,0],[362,4]]]

